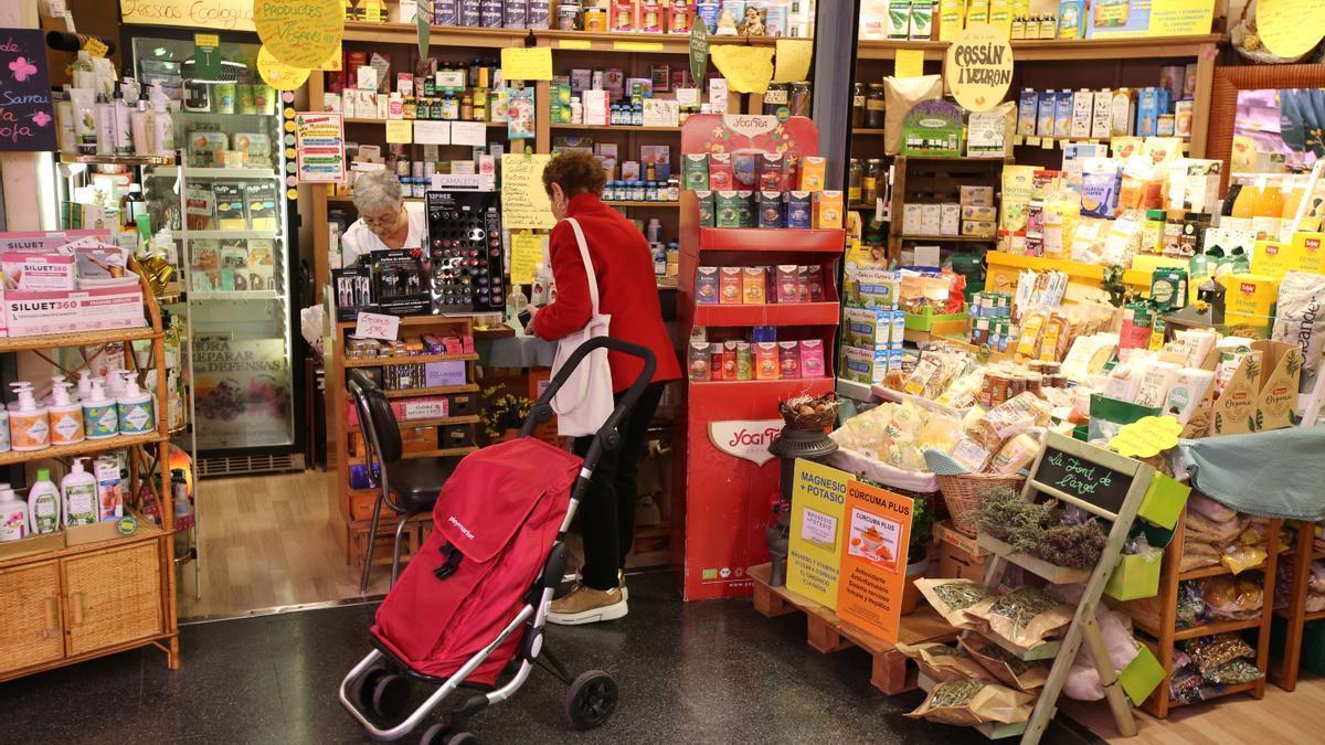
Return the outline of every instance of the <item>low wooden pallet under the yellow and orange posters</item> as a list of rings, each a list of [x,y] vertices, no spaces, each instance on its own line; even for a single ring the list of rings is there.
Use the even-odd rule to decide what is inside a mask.
[[[771,587],[768,575],[772,565],[751,566],[749,573],[754,579],[754,608],[772,618],[792,612],[806,614],[806,638],[810,646],[820,652],[837,652],[860,647],[873,658],[869,683],[889,696],[913,691],[917,687],[914,664],[897,647],[877,636],[867,634],[837,618],[831,608],[787,590],[786,586]],[[957,640],[957,631],[938,615],[934,608],[924,606],[910,615],[904,615],[898,630],[898,640],[904,644],[925,642],[949,643]]]

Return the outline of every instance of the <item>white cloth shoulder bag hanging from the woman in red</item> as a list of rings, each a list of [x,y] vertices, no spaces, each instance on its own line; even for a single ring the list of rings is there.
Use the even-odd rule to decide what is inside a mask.
[[[583,329],[572,331],[556,342],[556,355],[553,358],[554,378],[562,365],[571,358],[571,353],[580,345],[598,337],[606,337],[612,321],[611,315],[599,313],[598,276],[594,273],[594,260],[584,243],[584,231],[574,217],[567,217],[566,221],[575,231],[575,243],[579,244],[580,258],[584,260],[584,272],[588,274],[588,297],[594,304],[594,310]],[[571,371],[566,384],[553,396],[556,433],[563,437],[595,435],[612,414],[613,406],[612,369],[607,362],[607,350],[596,349]]]

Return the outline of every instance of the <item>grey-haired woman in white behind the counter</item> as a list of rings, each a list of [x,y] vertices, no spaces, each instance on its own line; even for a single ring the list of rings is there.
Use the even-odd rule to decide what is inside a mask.
[[[421,204],[405,204],[400,179],[391,171],[367,171],[354,180],[354,207],[359,219],[341,237],[342,264],[391,248],[423,248],[427,213]],[[416,209],[411,209],[411,208]]]

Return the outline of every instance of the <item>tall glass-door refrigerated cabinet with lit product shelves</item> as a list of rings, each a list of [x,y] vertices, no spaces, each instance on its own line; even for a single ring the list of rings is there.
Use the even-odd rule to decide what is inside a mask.
[[[209,459],[298,452],[280,91],[257,73],[256,42],[223,40],[205,70],[192,38],[136,37],[131,49],[139,81],[175,110],[182,168],[148,168],[144,196],[154,231],[180,249],[201,472],[216,472]]]

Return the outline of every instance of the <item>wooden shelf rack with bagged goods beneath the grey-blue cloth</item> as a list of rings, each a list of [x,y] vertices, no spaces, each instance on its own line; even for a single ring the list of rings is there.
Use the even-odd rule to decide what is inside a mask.
[[[1186,534],[1186,529],[1183,528],[1185,520],[1186,512],[1183,512],[1183,516],[1178,518],[1173,542],[1170,542],[1165,549],[1163,566],[1159,570],[1159,594],[1154,598],[1118,603],[1128,612],[1128,615],[1132,616],[1133,626],[1145,636],[1149,636],[1149,639],[1141,638],[1138,640],[1150,647],[1150,651],[1154,652],[1159,664],[1163,665],[1163,683],[1155,688],[1154,693],[1146,699],[1142,707],[1147,713],[1159,718],[1167,717],[1173,708],[1185,705],[1182,701],[1174,700],[1170,695],[1173,654],[1177,642],[1196,639],[1211,634],[1255,632],[1256,639],[1253,643],[1252,643],[1256,648],[1256,668],[1260,669],[1263,677],[1252,683],[1227,685],[1223,691],[1207,695],[1206,700],[1243,692],[1260,699],[1265,695],[1267,679],[1264,677],[1264,673],[1269,671],[1269,626],[1273,615],[1271,612],[1271,607],[1275,602],[1275,567],[1279,559],[1277,554],[1280,553],[1280,521],[1269,521],[1269,529],[1267,530],[1269,537],[1265,544],[1268,557],[1265,561],[1259,566],[1247,569],[1239,574],[1239,577],[1244,577],[1248,571],[1261,573],[1261,587],[1265,604],[1263,606],[1260,615],[1246,620],[1218,620],[1198,624],[1190,628],[1178,628],[1178,583],[1187,579],[1204,579],[1232,574],[1232,571],[1223,565],[1182,571],[1182,553]]]

